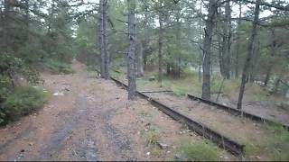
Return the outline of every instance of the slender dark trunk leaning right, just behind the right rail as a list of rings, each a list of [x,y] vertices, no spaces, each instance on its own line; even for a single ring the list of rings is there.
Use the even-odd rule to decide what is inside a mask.
[[[254,12],[254,22],[253,22],[253,27],[252,27],[252,34],[251,34],[250,40],[248,42],[247,58],[246,58],[246,62],[245,62],[244,68],[243,68],[242,83],[241,83],[241,87],[240,87],[240,91],[239,91],[239,95],[238,95],[238,105],[237,105],[238,109],[242,108],[242,101],[243,101],[246,78],[247,78],[247,68],[250,65],[251,57],[252,57],[253,52],[254,52],[254,46],[255,46],[256,34],[257,34],[256,25],[257,25],[258,20],[259,20],[259,11],[260,11],[260,5],[259,4],[260,4],[260,0],[256,0],[256,8],[255,8],[255,12]]]

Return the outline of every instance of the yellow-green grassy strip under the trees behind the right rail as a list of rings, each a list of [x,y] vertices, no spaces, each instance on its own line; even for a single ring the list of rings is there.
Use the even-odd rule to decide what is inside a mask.
[[[181,77],[167,76],[164,74],[162,84],[158,83],[158,71],[154,70],[150,73],[150,76],[154,76],[154,81],[148,81],[149,76],[144,76],[140,80],[136,81],[137,87],[163,87],[166,89],[171,89],[174,94],[182,96],[184,94],[195,94],[201,95],[202,81],[199,81],[199,74],[197,71],[186,70]],[[217,95],[219,97],[232,97],[238,96],[239,87],[241,85],[240,79],[225,79],[224,83],[222,76],[211,76],[210,91],[211,91],[211,100],[215,100]],[[220,86],[222,88],[219,93]],[[139,88],[142,89],[142,88]],[[245,96],[247,98],[264,101],[271,103],[281,103],[288,99],[270,95],[267,96],[268,90],[261,85],[248,83],[246,85]]]

